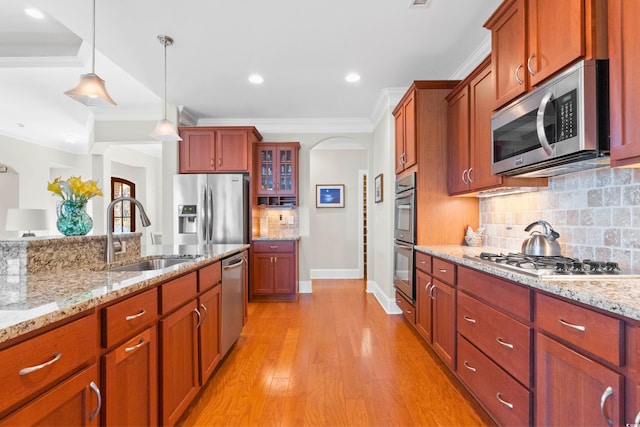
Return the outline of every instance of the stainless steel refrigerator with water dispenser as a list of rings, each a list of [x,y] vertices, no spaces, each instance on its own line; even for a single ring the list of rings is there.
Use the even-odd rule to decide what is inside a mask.
[[[173,178],[174,244],[249,243],[249,176]]]

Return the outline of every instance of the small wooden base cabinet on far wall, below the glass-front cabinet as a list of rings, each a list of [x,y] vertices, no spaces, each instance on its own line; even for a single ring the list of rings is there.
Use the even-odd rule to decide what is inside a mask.
[[[295,299],[297,262],[297,242],[295,241],[253,241],[251,244],[251,299]]]

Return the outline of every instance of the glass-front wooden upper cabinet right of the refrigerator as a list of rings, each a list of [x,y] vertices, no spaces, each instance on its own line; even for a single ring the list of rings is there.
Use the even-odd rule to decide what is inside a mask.
[[[298,204],[298,142],[263,143],[255,146],[255,194],[258,205]]]

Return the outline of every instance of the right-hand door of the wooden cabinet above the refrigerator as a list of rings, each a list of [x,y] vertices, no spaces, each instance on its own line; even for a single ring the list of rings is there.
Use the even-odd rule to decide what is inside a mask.
[[[249,171],[249,136],[245,130],[216,131],[216,165],[218,172]]]

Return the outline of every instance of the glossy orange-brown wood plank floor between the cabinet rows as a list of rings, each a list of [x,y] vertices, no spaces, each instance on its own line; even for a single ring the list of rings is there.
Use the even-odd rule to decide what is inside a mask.
[[[238,343],[183,426],[487,426],[491,419],[362,280],[249,304]]]

